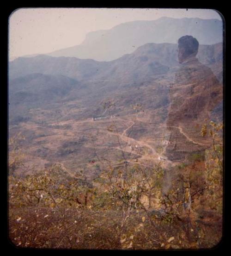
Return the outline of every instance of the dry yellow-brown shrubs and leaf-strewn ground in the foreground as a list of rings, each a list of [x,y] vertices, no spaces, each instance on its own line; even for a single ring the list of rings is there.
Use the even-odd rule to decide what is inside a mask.
[[[222,237],[222,125],[201,130],[213,145],[203,160],[164,169],[124,163],[100,169],[94,179],[61,165],[9,173],[9,237],[29,248],[199,249]],[[14,155],[12,155],[14,156]],[[101,160],[102,161],[102,160]],[[26,169],[24,169],[26,170]]]

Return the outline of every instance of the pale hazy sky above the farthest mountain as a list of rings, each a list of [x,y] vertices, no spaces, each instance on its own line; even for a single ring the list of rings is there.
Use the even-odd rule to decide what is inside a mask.
[[[21,8],[9,18],[10,60],[81,44],[90,31],[163,16],[221,20],[209,9]]]

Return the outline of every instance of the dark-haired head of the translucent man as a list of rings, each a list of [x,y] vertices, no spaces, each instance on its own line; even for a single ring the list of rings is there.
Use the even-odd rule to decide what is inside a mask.
[[[192,36],[184,36],[178,39],[178,60],[184,62],[191,56],[196,56],[199,43]]]

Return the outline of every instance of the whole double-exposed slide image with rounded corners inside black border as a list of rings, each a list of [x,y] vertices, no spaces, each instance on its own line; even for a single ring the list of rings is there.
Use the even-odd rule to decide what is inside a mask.
[[[218,246],[222,14],[41,7],[8,22],[12,246]]]

